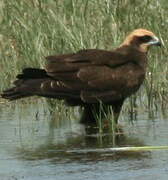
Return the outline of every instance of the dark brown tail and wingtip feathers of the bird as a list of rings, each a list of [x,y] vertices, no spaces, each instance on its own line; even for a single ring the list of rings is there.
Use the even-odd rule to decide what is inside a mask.
[[[14,87],[2,92],[2,98],[16,100],[37,95],[56,99],[79,99],[80,96],[78,92],[57,83],[43,69],[26,68],[17,75],[13,84]]]

